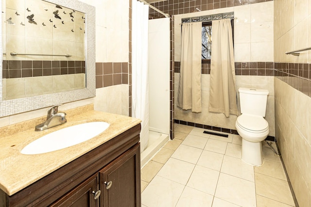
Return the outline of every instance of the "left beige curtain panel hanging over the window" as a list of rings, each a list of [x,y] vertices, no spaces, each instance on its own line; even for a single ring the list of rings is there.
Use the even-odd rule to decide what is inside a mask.
[[[177,106],[201,112],[202,22],[182,25],[180,79]]]

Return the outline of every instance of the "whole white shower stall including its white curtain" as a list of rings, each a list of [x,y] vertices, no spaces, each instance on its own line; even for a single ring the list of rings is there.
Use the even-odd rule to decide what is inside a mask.
[[[141,119],[141,166],[169,140],[170,18],[132,0],[132,116]]]

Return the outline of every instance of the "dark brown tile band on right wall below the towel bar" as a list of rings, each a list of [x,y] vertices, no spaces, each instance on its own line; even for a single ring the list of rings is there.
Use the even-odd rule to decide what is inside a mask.
[[[311,97],[311,64],[275,63],[275,77]]]

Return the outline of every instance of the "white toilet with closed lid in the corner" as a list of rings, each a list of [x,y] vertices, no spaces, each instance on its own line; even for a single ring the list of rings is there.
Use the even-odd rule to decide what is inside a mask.
[[[242,115],[235,127],[242,137],[242,160],[248,164],[260,166],[263,162],[261,141],[269,134],[266,115],[268,90],[239,88]]]

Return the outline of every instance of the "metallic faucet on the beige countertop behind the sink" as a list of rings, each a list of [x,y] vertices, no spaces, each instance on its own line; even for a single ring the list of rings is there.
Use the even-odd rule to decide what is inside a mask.
[[[65,112],[58,112],[58,107],[60,105],[53,106],[48,111],[47,120],[42,124],[35,126],[35,131],[42,131],[51,127],[56,127],[61,124],[65,124],[66,120],[66,113]]]

